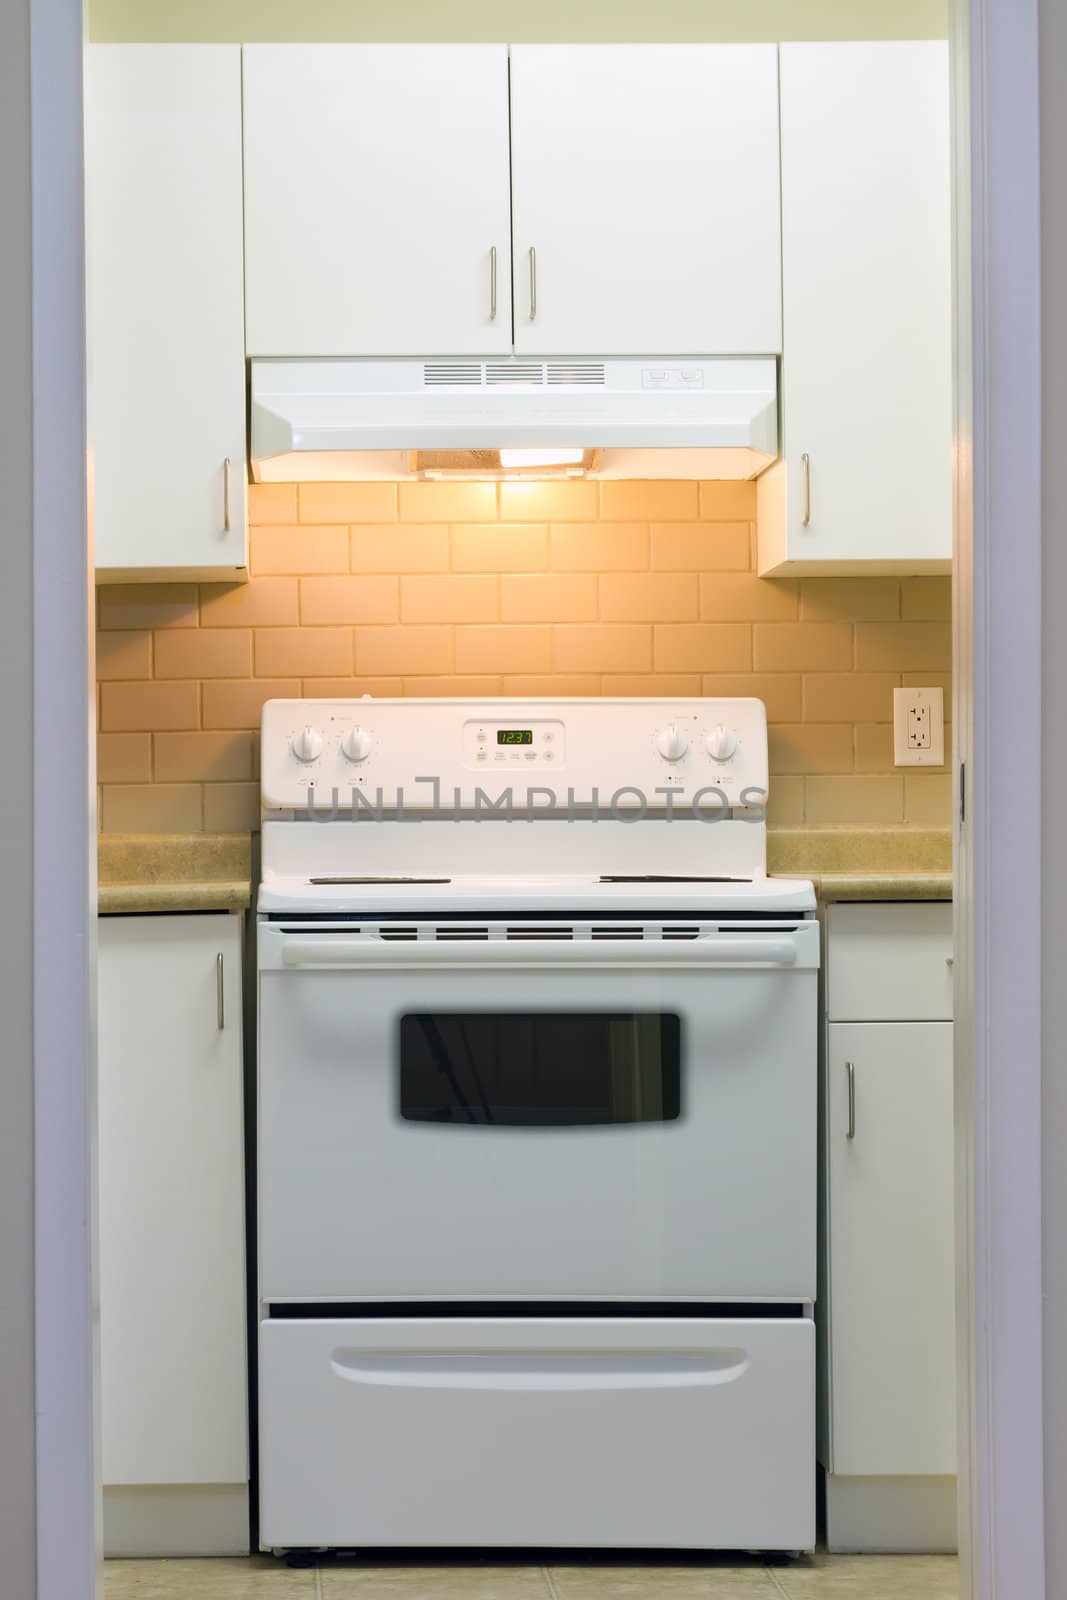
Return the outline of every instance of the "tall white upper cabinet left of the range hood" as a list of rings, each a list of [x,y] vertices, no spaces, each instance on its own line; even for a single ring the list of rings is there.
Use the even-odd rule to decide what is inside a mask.
[[[86,274],[99,579],[246,576],[242,251],[240,46],[93,45]]]

